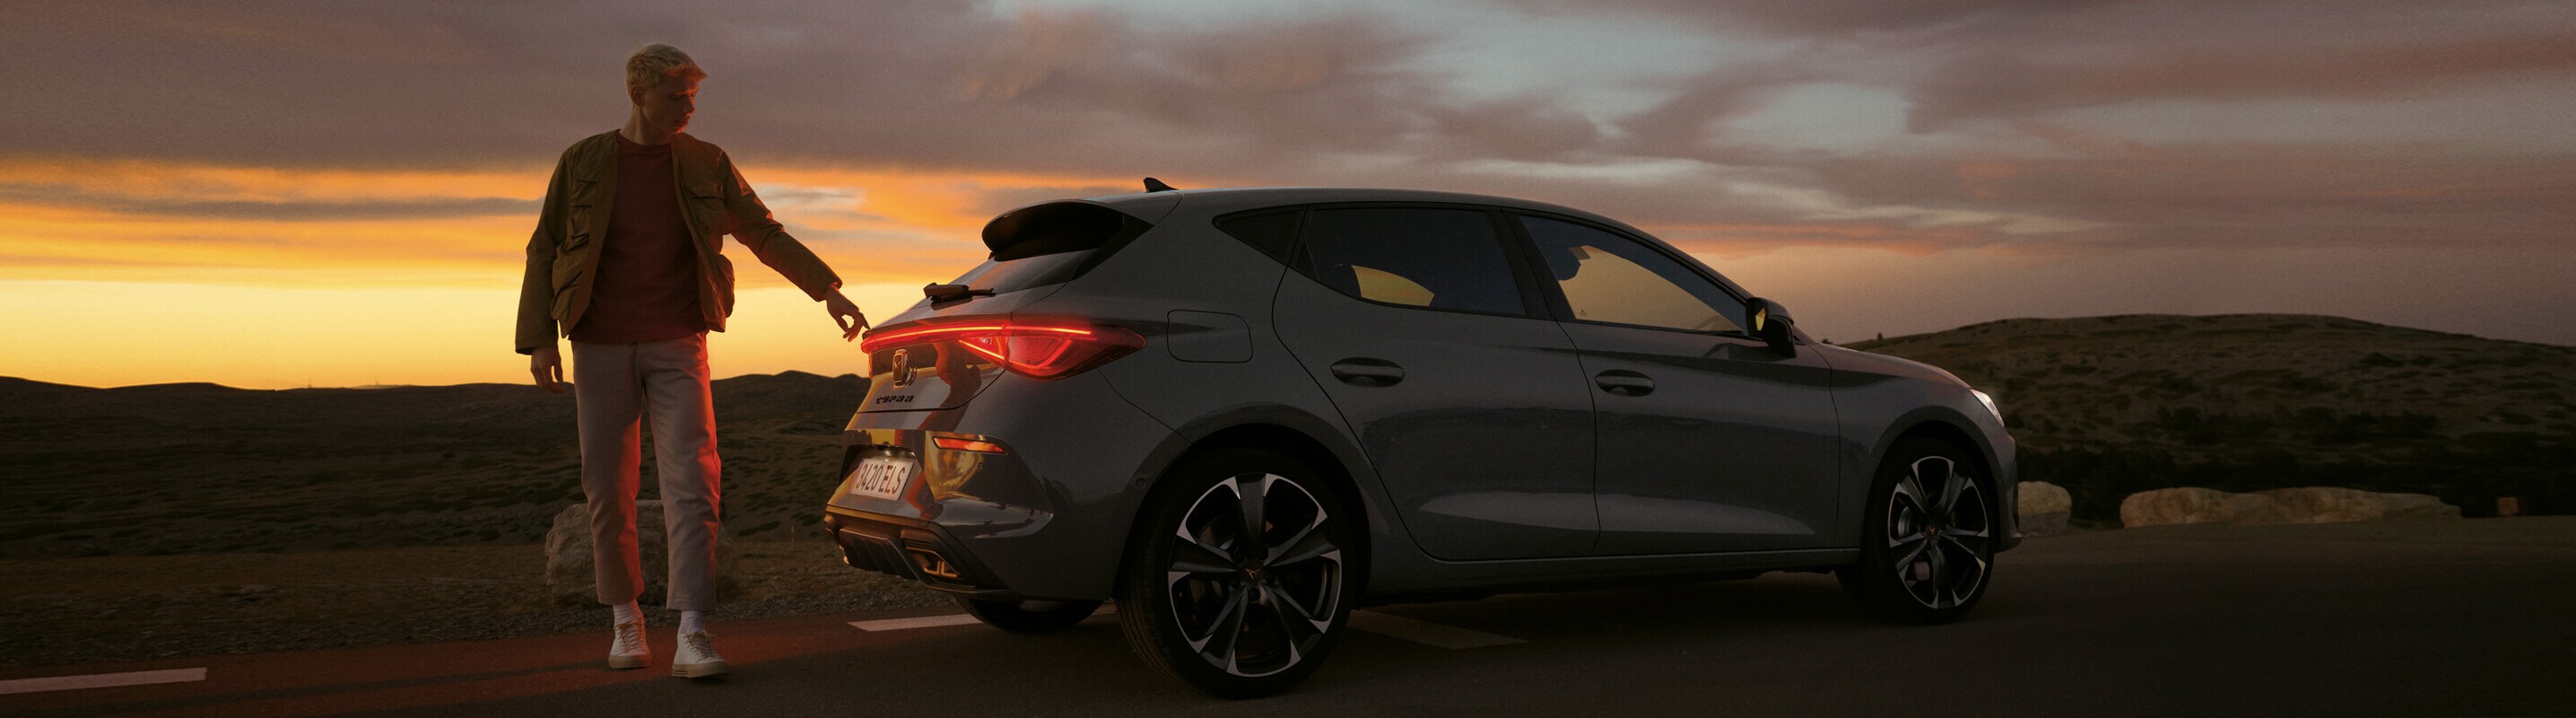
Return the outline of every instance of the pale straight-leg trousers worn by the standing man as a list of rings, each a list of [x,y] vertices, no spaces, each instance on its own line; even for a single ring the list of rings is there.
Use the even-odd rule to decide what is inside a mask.
[[[716,602],[716,404],[706,386],[706,335],[665,342],[572,342],[572,396],[582,432],[582,494],[590,499],[590,551],[603,605],[644,594],[636,556],[639,422],[652,417],[654,474],[662,479],[662,530],[670,535],[670,610]]]

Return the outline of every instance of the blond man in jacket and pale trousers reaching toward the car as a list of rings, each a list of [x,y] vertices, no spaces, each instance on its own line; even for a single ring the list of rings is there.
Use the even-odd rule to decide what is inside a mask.
[[[734,311],[724,234],[824,301],[842,340],[868,327],[840,293],[840,275],[781,232],[724,149],[680,134],[698,108],[703,77],[698,62],[667,44],[649,44],[626,59],[634,111],[623,129],[574,142],[554,165],[518,293],[518,353],[528,355],[536,386],[564,391],[554,337],[572,340],[582,494],[590,499],[598,594],[613,607],[613,669],[639,669],[652,659],[636,607],[644,594],[636,556],[639,419],[652,417],[662,528],[670,535],[667,607],[680,612],[675,677],[729,672],[703,623],[714,605],[721,530],[706,332],[724,332],[724,317]]]

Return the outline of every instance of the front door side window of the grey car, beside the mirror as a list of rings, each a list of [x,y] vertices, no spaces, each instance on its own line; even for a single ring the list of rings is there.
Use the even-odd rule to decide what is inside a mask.
[[[1739,332],[1744,304],[1687,265],[1636,239],[1522,216],[1574,319],[1690,332]]]

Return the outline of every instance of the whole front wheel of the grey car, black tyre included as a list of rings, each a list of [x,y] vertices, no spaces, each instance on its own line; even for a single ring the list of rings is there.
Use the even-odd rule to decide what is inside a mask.
[[[1942,440],[1899,440],[1878,463],[1862,512],[1860,561],[1834,571],[1878,615],[1950,623],[1994,584],[2002,543],[1994,479]]]

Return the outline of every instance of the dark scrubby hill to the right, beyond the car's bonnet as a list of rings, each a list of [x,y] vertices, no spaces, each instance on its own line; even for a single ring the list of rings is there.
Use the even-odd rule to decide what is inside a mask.
[[[2303,484],[2576,512],[2576,347],[2311,314],[2004,319],[1850,347],[1994,394],[2022,479],[2069,484],[2076,517],[2136,489]]]

